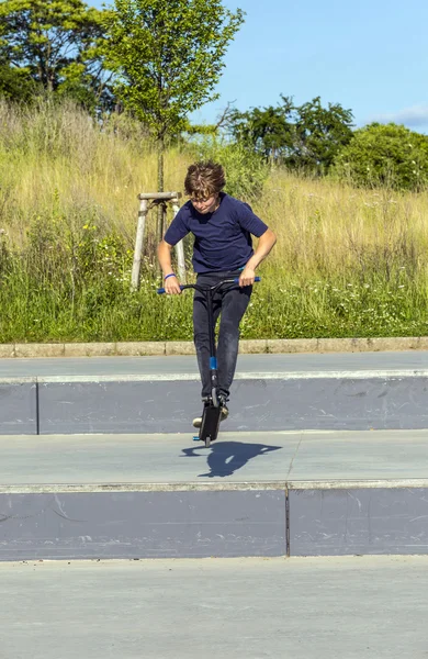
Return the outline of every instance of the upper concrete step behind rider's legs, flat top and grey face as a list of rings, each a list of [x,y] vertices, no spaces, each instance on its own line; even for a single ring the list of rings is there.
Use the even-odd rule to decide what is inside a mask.
[[[0,361],[0,434],[188,433],[194,357]],[[229,432],[428,427],[428,351],[243,355]]]

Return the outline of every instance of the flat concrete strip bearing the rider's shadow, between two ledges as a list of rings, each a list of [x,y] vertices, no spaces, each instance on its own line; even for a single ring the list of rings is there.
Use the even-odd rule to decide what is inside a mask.
[[[1,485],[428,479],[428,431],[0,436]]]

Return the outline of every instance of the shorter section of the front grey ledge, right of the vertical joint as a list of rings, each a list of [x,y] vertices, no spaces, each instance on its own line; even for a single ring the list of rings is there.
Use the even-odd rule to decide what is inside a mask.
[[[426,488],[289,492],[290,556],[428,554]]]

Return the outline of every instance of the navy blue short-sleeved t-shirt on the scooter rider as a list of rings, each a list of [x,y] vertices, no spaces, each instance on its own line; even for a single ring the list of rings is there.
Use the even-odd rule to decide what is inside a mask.
[[[177,245],[188,233],[194,235],[195,272],[238,270],[252,256],[251,234],[260,237],[268,228],[251,208],[224,192],[214,213],[202,215],[188,201],[172,220],[165,241]]]

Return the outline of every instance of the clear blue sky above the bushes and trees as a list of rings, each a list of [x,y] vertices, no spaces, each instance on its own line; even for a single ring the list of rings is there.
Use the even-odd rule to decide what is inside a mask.
[[[428,133],[427,0],[223,3],[245,11],[245,23],[225,55],[219,99],[193,123],[215,122],[227,103],[245,112],[277,105],[281,94],[296,105],[319,96],[324,107],[351,110],[356,127],[395,122]]]

